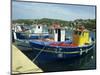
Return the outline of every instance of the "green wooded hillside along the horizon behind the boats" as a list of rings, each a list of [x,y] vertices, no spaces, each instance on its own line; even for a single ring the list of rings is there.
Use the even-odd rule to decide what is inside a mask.
[[[58,22],[61,26],[68,26],[68,27],[77,27],[77,25],[84,25],[89,30],[96,29],[96,19],[76,19],[74,21],[64,21],[59,19],[18,19],[13,20],[12,23],[24,23],[26,25],[33,25],[33,24],[46,24],[51,26],[53,22]]]

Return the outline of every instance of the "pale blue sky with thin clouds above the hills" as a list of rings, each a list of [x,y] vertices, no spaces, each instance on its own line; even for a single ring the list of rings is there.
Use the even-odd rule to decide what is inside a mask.
[[[95,19],[95,6],[12,2],[12,19]]]

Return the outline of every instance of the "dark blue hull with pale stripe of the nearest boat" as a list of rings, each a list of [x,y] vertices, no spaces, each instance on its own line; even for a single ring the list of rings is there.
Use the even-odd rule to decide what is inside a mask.
[[[33,61],[52,62],[59,59],[80,57],[93,50],[94,44],[85,47],[52,47],[48,45],[30,42],[30,46],[35,54]]]

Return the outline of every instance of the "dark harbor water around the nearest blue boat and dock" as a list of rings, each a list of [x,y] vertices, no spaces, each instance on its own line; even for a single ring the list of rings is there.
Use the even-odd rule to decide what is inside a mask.
[[[91,36],[95,39],[95,32],[91,32]],[[34,51],[21,50],[31,61],[35,58]],[[24,61],[23,61],[24,62]],[[96,69],[96,44],[93,50],[88,54],[79,58],[68,58],[62,60],[55,60],[48,63],[41,63],[37,60],[34,63],[40,67],[44,72],[57,72],[57,71],[73,71],[73,70],[90,70]]]

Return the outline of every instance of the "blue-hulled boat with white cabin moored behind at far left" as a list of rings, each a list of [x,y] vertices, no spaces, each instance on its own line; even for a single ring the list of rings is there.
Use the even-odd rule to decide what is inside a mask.
[[[35,25],[15,25],[14,33],[16,34],[15,40],[30,40],[39,38],[48,38],[49,34],[46,25],[35,24]]]

